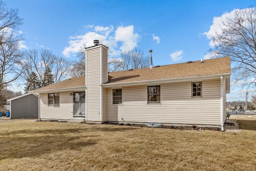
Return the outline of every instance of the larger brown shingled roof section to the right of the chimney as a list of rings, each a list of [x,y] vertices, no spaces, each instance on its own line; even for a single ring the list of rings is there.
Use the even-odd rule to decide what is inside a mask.
[[[128,83],[137,81],[151,81],[160,79],[175,79],[206,75],[231,73],[230,57],[193,61],[191,63],[177,63],[159,67],[118,71],[108,74],[109,83]]]

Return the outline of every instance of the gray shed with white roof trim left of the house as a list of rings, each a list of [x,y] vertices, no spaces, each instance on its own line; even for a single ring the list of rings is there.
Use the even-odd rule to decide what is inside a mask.
[[[38,94],[27,93],[7,100],[10,118],[38,118]]]

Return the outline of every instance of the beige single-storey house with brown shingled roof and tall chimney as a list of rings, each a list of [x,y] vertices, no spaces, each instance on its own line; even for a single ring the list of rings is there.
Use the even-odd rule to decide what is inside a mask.
[[[40,94],[40,119],[83,117],[94,124],[162,123],[223,130],[230,57],[113,73],[108,73],[107,61],[108,47],[95,41],[86,48],[85,77],[34,90]]]

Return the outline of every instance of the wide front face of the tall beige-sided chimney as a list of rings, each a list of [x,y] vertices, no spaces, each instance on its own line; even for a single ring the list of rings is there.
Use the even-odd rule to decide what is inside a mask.
[[[100,48],[87,51],[87,120],[100,121]]]

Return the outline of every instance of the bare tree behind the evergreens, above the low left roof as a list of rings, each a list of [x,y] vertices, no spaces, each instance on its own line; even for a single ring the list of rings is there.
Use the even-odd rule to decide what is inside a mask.
[[[70,61],[54,55],[49,49],[40,49],[39,52],[37,49],[26,51],[23,65],[26,66],[26,71],[22,78],[28,80],[34,72],[38,75],[40,87],[48,85],[48,80],[53,79],[57,83],[69,77]],[[47,75],[52,78],[47,78]]]

